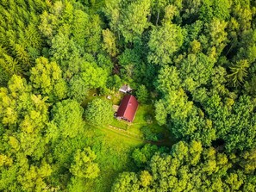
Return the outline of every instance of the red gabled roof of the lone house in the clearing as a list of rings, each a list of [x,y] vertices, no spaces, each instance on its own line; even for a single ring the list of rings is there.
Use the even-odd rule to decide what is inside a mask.
[[[138,106],[139,103],[134,96],[124,96],[116,112],[116,116],[121,117],[122,119],[125,119],[127,121],[134,121],[134,115]]]

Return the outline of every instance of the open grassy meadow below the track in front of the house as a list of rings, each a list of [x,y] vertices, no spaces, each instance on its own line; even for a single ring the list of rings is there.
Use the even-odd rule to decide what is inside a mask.
[[[84,191],[110,191],[116,176],[122,171],[134,171],[136,166],[131,158],[134,148],[143,146],[142,141],[122,136],[104,128],[90,128],[85,131],[87,145],[97,154],[101,173],[95,180],[89,180]]]

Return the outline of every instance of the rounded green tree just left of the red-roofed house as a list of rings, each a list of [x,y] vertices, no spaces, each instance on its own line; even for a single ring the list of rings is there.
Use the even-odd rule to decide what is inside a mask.
[[[100,98],[94,99],[85,109],[85,120],[95,126],[109,124],[113,115],[111,103]]]

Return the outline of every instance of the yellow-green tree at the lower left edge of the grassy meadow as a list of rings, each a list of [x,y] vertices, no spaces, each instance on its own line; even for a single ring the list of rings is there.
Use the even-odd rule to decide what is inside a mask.
[[[97,163],[94,163],[96,158],[96,154],[91,151],[90,147],[84,148],[83,151],[78,150],[70,168],[72,175],[81,178],[96,178],[100,171]]]

